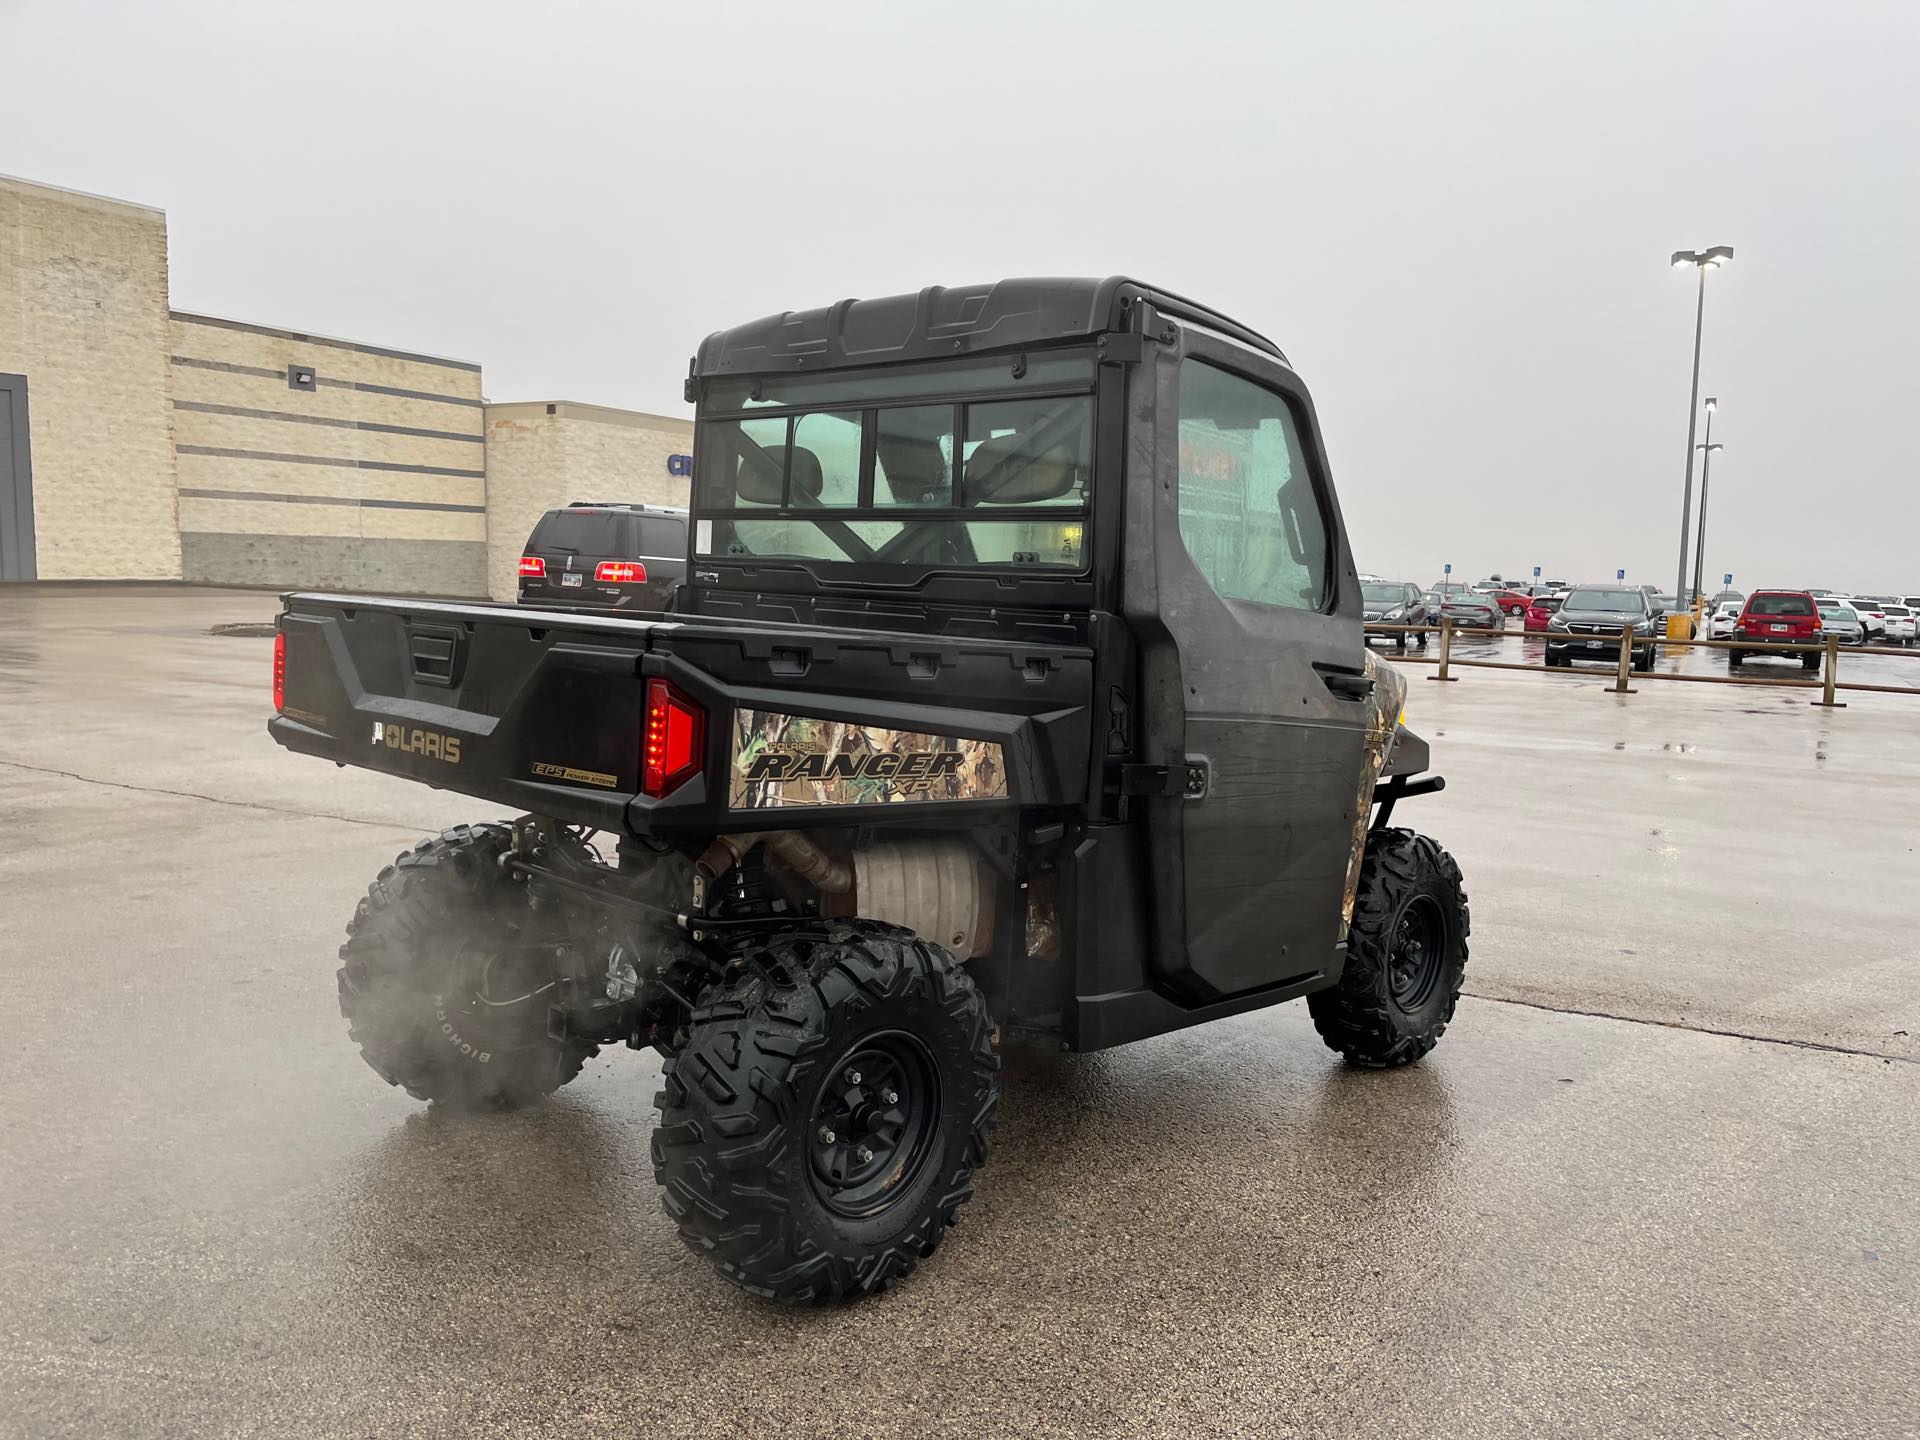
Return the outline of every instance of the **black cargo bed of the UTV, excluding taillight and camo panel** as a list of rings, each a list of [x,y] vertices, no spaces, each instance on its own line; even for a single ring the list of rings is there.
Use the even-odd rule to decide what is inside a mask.
[[[845,822],[824,789],[818,804],[795,787],[739,803],[741,739],[768,716],[998,747],[998,791],[885,793],[918,803],[868,804],[874,824],[1087,797],[1085,645],[332,593],[282,597],[278,632],[280,745],[566,824],[712,833],[791,828],[816,808]],[[697,772],[659,797],[643,785],[649,680],[699,716]]]

